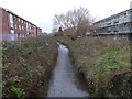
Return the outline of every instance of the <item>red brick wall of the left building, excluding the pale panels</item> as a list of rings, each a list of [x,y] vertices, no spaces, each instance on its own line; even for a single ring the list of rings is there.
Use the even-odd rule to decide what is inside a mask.
[[[25,36],[36,36],[42,33],[42,30],[40,28],[25,21],[24,19],[18,16],[16,14],[14,14],[10,11],[6,11],[6,9],[2,9],[2,8],[0,10],[2,13],[2,14],[0,13],[0,15],[2,15],[2,20],[0,20],[0,25],[2,25],[2,28],[0,29],[0,31],[3,34],[10,33],[10,14],[13,15],[13,30],[14,30],[14,34],[18,34],[19,38],[25,37]],[[26,23],[31,25],[30,35],[28,34]]]

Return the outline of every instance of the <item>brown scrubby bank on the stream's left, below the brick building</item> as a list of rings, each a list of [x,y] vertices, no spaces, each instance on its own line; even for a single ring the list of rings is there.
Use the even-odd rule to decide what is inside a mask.
[[[3,42],[3,97],[44,97],[57,58],[52,36]]]

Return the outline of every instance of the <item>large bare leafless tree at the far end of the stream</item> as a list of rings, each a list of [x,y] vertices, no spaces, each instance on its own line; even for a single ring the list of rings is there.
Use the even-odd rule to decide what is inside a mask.
[[[62,28],[63,30],[76,31],[76,33],[85,33],[89,31],[92,19],[86,8],[78,8],[67,11],[65,14],[55,14],[54,31]]]

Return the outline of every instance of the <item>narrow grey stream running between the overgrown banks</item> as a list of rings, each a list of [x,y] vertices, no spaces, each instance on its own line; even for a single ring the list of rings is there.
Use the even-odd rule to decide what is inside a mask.
[[[88,92],[77,87],[78,79],[69,58],[69,50],[59,44],[58,58],[52,73],[47,97],[88,97]]]

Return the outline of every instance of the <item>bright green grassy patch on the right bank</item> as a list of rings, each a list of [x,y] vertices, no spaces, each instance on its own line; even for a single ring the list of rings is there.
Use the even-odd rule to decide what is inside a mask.
[[[123,52],[119,48],[108,48],[100,53],[96,59],[95,69],[92,70],[97,77],[101,77],[106,73],[120,70],[122,68],[129,67],[129,61],[123,61],[125,56]],[[128,55],[128,54],[125,54]],[[125,67],[124,67],[125,66]]]

